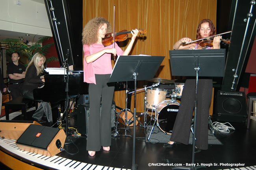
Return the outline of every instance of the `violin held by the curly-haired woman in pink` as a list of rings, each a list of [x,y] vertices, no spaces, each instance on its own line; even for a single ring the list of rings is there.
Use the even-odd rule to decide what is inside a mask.
[[[118,33],[115,33],[115,42],[125,41],[128,38],[128,33],[130,32],[132,31],[122,30],[122,31],[119,31]],[[144,35],[145,33],[147,33],[147,30],[139,30],[139,34]],[[109,46],[113,44],[113,42],[114,42],[113,33],[106,34],[105,37],[102,39],[102,44],[104,46]]]

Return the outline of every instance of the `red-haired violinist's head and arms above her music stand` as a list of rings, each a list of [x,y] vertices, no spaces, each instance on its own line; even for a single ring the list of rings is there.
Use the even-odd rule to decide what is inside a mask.
[[[197,27],[197,39],[209,37],[209,36],[215,35],[215,33],[216,33],[216,28],[210,19],[201,20],[201,22],[199,23],[199,25]],[[192,41],[192,39],[184,37],[174,44],[173,49],[174,50],[187,50],[187,49],[200,50],[200,49],[203,49],[200,45],[198,45],[198,43],[200,41],[198,43],[193,43],[193,44],[182,46],[182,44],[184,42],[187,43],[187,42],[191,42],[191,41]],[[214,37],[213,43],[212,43],[213,46],[212,47],[209,46],[207,49],[219,49],[220,41],[221,41],[221,35]]]

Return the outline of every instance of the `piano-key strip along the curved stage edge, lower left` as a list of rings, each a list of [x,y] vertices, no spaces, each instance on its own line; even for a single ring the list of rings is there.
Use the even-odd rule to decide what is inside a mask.
[[[56,155],[49,157],[37,153],[26,152],[18,148],[18,146],[15,144],[15,139],[0,139],[0,146],[9,152],[14,153],[15,155],[19,155],[24,159],[34,162],[35,164],[42,164],[57,170],[125,170],[120,168],[83,163]]]

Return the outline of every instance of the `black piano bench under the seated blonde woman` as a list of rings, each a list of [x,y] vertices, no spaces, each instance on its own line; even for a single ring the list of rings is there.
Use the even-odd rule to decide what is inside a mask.
[[[9,102],[2,103],[2,105],[5,106],[6,120],[9,120],[9,109],[21,109],[22,116],[27,120],[26,109],[32,106],[32,104],[33,100],[23,98],[22,96],[10,100]]]

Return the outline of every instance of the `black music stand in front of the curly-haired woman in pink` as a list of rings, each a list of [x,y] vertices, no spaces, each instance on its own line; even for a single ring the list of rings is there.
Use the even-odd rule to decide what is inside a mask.
[[[109,82],[134,81],[134,135],[132,152],[132,170],[135,165],[135,122],[136,122],[136,81],[152,79],[160,67],[164,56],[121,55],[117,58]]]

